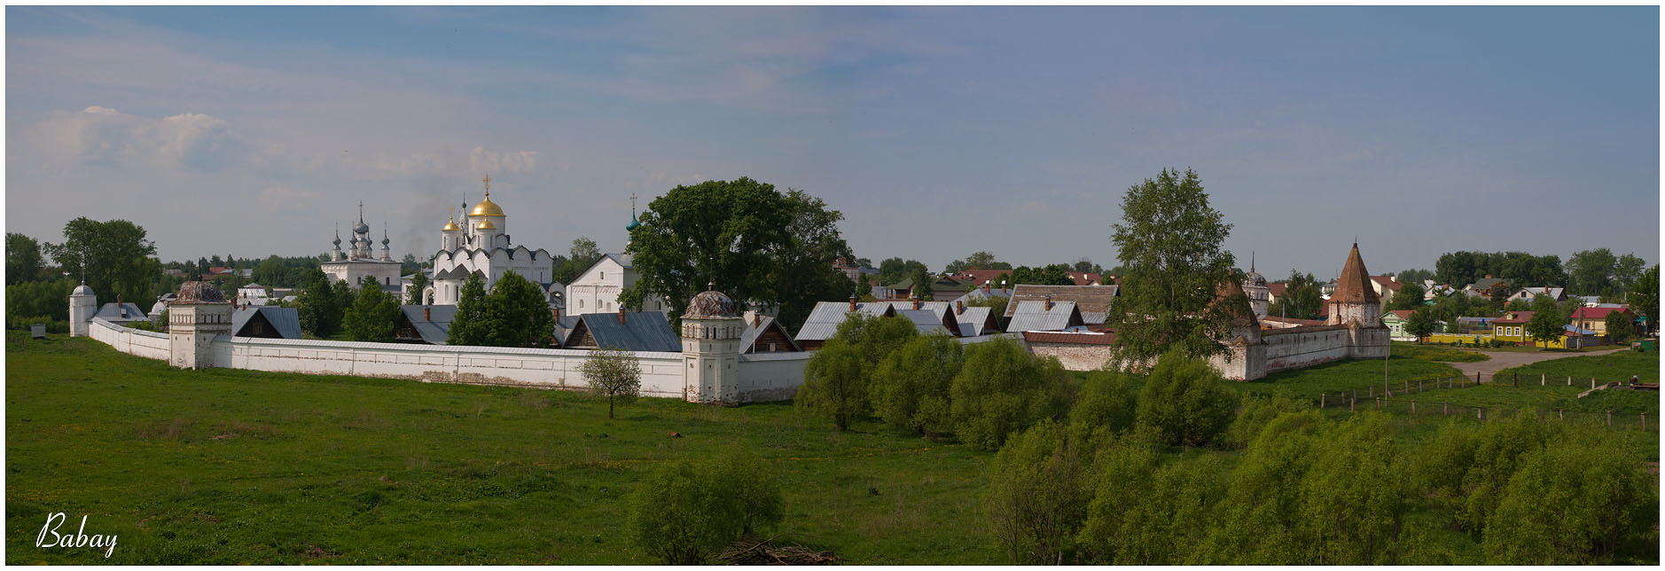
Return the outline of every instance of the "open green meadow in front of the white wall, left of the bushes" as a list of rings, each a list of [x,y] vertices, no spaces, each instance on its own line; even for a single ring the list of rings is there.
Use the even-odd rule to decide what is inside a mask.
[[[847,563],[1004,563],[992,454],[739,408],[401,380],[183,371],[62,336],[7,345],[7,563],[654,563],[623,534],[654,464],[733,446],[786,493],[783,541]],[[669,433],[683,438],[669,438]],[[40,549],[48,513],[115,554]],[[67,529],[72,531],[72,529]]]

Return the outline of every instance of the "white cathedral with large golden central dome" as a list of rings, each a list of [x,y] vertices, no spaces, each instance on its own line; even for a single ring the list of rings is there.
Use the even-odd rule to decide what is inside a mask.
[[[453,215],[440,228],[440,251],[433,255],[430,285],[423,290],[428,305],[456,305],[463,281],[480,275],[490,291],[504,271],[514,271],[531,280],[551,296],[559,296],[563,286],[554,283],[554,258],[543,248],[516,246],[509,240],[508,215],[491,201],[491,176],[486,176],[486,198],[463,215],[461,225]],[[466,203],[465,203],[466,208]]]

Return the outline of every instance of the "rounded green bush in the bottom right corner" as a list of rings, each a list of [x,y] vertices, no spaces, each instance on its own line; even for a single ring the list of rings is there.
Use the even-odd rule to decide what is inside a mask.
[[[1494,564],[1612,564],[1658,546],[1658,483],[1605,438],[1553,439],[1520,459],[1485,521]]]

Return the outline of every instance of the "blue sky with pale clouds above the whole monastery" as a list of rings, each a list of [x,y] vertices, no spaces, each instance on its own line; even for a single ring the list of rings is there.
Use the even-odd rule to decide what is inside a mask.
[[[514,243],[619,251],[631,195],[751,176],[874,263],[1109,268],[1162,168],[1272,280],[1660,260],[1658,7],[7,7],[5,80],[7,231],[162,260],[325,253],[360,201],[426,260],[486,175]]]

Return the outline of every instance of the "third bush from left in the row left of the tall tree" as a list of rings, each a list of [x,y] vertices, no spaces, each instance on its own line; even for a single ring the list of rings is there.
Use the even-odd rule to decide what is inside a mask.
[[[1056,358],[1037,358],[1017,341],[999,338],[966,348],[949,401],[959,439],[997,449],[1014,431],[1064,418],[1071,393],[1069,373]]]

